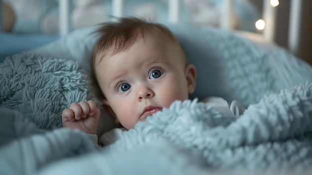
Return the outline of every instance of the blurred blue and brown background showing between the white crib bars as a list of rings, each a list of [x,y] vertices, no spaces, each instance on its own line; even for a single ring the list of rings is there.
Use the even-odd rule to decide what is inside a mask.
[[[3,4],[4,31],[17,33],[45,33],[57,34],[58,32],[58,0],[2,0],[10,4],[13,8],[8,10],[7,4]],[[156,18],[158,21],[166,17],[166,0],[129,0],[128,8],[125,13],[132,13],[141,16],[147,16],[147,13],[153,13],[149,18]],[[220,17],[220,5],[222,0],[181,0],[187,6],[182,8],[181,18],[183,21],[190,20],[190,24],[196,26],[218,26]],[[276,33],[275,42],[288,48],[288,31],[290,7],[292,0],[279,0],[280,4],[276,7]],[[298,49],[294,53],[296,56],[306,60],[312,65],[312,0],[295,0],[302,2]],[[74,0],[71,16],[71,26],[79,28],[91,24],[106,21],[109,17],[110,0]],[[104,3],[105,2],[105,3]],[[144,2],[142,5],[141,3]],[[158,2],[158,3],[157,3]],[[161,3],[160,3],[161,2]],[[254,23],[261,18],[263,11],[263,0],[235,0],[237,10],[236,16],[231,20],[239,20],[239,30],[252,31],[255,29]],[[96,17],[90,17],[90,16]],[[186,19],[186,16],[190,16]],[[9,16],[9,17],[7,17]],[[99,17],[101,16],[101,17]],[[92,20],[90,20],[92,19]],[[15,21],[12,23],[12,21]],[[13,25],[14,24],[14,25]]]

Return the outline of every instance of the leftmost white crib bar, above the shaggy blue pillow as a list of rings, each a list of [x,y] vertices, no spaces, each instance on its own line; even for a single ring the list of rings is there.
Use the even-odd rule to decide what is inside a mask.
[[[70,30],[70,3],[69,0],[59,0],[59,34],[64,36]]]

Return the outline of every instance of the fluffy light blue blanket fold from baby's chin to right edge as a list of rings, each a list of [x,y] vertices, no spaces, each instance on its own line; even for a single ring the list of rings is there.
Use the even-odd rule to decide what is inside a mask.
[[[312,84],[265,96],[238,119],[195,100],[175,102],[148,121],[138,123],[109,151],[166,138],[199,152],[212,169],[307,169],[312,164],[312,141],[306,134],[312,131]]]

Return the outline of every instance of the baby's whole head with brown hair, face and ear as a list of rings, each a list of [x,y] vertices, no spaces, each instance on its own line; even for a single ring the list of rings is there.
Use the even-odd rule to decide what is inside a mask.
[[[125,128],[194,92],[196,69],[163,25],[121,18],[98,31],[91,58],[95,94]]]

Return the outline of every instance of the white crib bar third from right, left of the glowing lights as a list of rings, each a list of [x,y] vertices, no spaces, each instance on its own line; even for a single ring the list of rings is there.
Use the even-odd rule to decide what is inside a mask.
[[[223,0],[221,16],[220,16],[220,27],[225,29],[233,29],[231,24],[231,18],[234,16],[234,2],[233,0]]]

